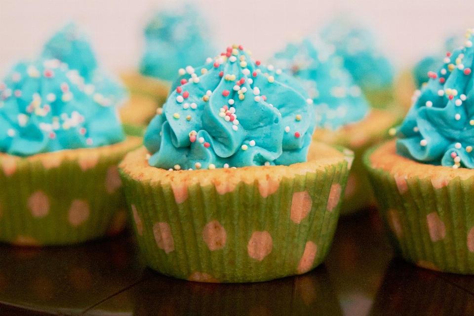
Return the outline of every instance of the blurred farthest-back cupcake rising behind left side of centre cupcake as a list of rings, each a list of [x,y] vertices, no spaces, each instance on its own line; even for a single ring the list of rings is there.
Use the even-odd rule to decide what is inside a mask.
[[[206,18],[190,3],[180,9],[159,11],[144,34],[145,51],[139,71],[121,76],[131,92],[121,117],[135,125],[150,122],[166,100],[171,82],[186,72],[186,66],[200,65],[217,53]]]

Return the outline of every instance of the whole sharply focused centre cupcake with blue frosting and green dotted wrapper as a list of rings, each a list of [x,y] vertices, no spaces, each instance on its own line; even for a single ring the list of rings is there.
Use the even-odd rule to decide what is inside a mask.
[[[302,87],[242,46],[188,69],[119,165],[145,261],[204,282],[310,271],[332,242],[352,152],[312,142]]]

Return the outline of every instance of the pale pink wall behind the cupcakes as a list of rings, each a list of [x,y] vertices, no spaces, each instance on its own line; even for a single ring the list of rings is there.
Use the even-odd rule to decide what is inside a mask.
[[[0,0],[0,73],[22,56],[38,52],[52,32],[76,20],[91,33],[109,68],[133,67],[140,57],[142,28],[163,0]],[[474,27],[473,0],[196,0],[223,47],[240,43],[265,59],[286,40],[351,8],[365,16],[384,50],[400,68],[439,47],[447,35]],[[449,3],[449,5],[448,5]]]

